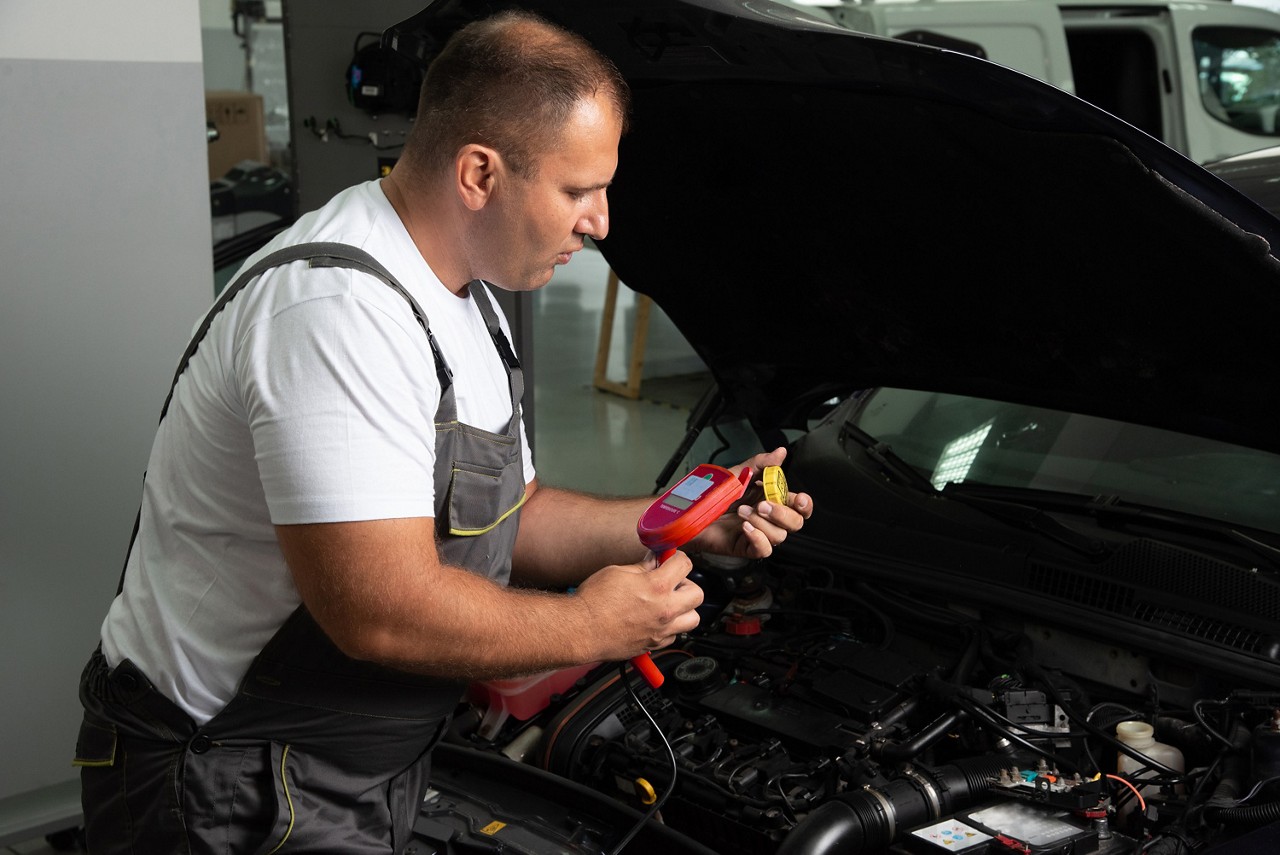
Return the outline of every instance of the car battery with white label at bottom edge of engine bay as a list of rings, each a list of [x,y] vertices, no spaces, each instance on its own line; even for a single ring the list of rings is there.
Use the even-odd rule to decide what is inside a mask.
[[[1087,820],[1016,801],[916,828],[904,840],[913,855],[1091,855],[1102,851],[1098,842]]]

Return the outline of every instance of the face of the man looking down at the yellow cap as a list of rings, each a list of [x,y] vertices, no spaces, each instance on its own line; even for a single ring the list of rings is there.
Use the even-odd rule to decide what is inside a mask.
[[[532,291],[568,264],[584,237],[609,230],[605,189],[618,166],[621,123],[598,95],[580,101],[558,143],[535,161],[532,177],[504,169],[489,211],[489,239],[498,257],[484,260],[485,276],[508,291]]]

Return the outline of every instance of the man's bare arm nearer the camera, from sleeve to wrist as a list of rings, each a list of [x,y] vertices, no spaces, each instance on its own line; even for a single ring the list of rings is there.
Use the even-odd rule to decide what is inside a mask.
[[[276,526],[276,536],[302,602],[355,659],[476,678],[580,664],[616,644],[589,598],[511,590],[440,562],[430,518]]]

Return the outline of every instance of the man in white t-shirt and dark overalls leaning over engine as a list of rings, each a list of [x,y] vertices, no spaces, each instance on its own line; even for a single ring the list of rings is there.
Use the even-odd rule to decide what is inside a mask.
[[[399,851],[466,681],[627,659],[698,623],[689,558],[659,566],[636,538],[649,498],[539,486],[484,284],[540,288],[605,236],[627,99],[577,36],[474,23],[392,174],[227,288],[165,403],[81,682],[90,851]],[[812,511],[742,506],[690,549],[764,557]]]

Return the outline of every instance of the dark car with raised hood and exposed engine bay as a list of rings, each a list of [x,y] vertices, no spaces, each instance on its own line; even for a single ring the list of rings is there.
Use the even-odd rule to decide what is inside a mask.
[[[818,512],[696,557],[660,689],[476,686],[411,851],[1280,851],[1280,221],[974,58],[522,5],[631,83],[600,250],[716,378],[692,462],[786,443]]]

